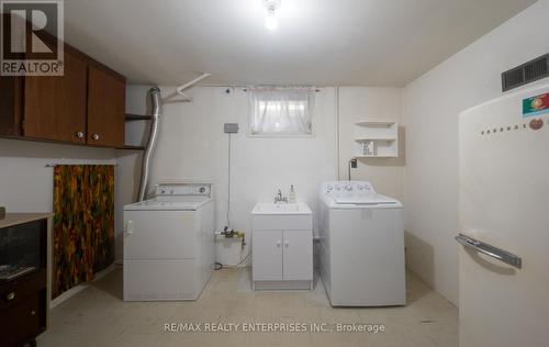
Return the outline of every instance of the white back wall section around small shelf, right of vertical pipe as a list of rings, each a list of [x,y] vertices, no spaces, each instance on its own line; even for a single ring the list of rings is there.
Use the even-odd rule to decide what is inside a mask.
[[[339,178],[348,179],[349,159],[354,157],[354,124],[359,121],[402,122],[402,89],[339,87]],[[351,169],[351,179],[368,180],[385,195],[403,199],[405,163],[404,128],[400,132],[399,158],[360,158]]]

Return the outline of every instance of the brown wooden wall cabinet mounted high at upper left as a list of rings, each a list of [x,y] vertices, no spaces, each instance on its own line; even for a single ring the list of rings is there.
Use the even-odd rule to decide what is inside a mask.
[[[64,63],[64,76],[0,77],[0,136],[122,147],[125,78],[67,44]]]

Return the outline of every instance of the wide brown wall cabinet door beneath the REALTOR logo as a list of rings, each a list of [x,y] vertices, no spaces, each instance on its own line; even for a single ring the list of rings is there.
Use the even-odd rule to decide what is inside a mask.
[[[24,127],[27,137],[86,142],[86,63],[65,53],[64,76],[24,80]]]

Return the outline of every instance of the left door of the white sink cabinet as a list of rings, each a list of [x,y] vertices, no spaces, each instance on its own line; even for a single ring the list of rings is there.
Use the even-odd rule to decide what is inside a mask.
[[[254,231],[251,237],[254,281],[282,280],[282,232]]]

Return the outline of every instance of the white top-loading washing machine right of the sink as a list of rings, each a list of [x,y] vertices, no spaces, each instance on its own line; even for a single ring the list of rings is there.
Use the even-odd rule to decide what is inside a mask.
[[[404,305],[402,203],[363,181],[325,182],[320,199],[321,277],[332,305]]]

